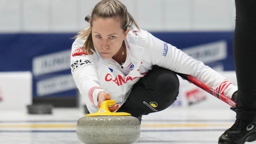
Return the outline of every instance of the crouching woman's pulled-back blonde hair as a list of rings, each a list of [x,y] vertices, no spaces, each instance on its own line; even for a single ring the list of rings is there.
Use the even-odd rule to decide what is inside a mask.
[[[127,11],[126,6],[123,5],[119,0],[102,0],[92,10],[90,18],[90,27],[80,31],[74,38],[82,39],[87,37],[83,45],[83,51],[88,54],[93,54],[94,45],[92,42],[92,24],[93,20],[97,17],[102,18],[119,18],[121,20],[121,28],[126,31],[127,28],[131,28],[133,24],[139,29],[138,24],[135,22],[133,17]]]

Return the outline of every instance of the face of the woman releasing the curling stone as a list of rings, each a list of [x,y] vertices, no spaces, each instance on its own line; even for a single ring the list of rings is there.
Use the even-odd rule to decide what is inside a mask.
[[[119,19],[97,17],[92,24],[92,41],[104,59],[111,59],[119,52],[128,31],[123,31]]]

